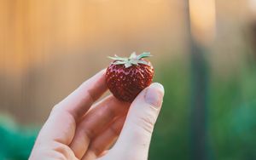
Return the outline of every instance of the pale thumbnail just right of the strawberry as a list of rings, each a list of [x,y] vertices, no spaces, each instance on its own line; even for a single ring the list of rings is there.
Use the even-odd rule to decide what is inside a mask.
[[[145,101],[152,106],[160,107],[165,94],[165,89],[160,83],[152,83],[145,94]]]

